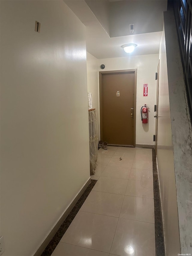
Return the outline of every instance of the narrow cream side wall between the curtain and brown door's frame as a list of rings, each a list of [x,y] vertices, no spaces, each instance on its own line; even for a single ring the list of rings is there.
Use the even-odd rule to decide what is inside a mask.
[[[96,109],[98,131],[100,140],[100,113],[99,113],[99,75],[98,75],[98,59],[87,52],[87,90],[92,93],[93,108]]]

